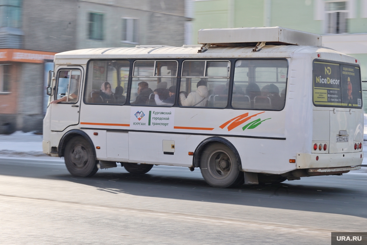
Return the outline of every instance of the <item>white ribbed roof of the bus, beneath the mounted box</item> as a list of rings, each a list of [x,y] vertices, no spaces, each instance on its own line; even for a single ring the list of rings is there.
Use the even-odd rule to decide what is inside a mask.
[[[253,47],[218,47],[212,46],[206,52],[198,53],[198,47],[131,47],[131,48],[90,48],[72,50],[55,55],[56,63],[63,63],[63,59],[175,59],[175,58],[290,58],[295,55],[301,57],[317,57],[320,59],[354,63],[355,58],[335,51],[331,48],[319,46],[273,46],[266,45],[260,51],[253,52]],[[312,55],[310,55],[312,54]],[[83,62],[84,63],[84,62]],[[358,62],[359,63],[359,62]]]

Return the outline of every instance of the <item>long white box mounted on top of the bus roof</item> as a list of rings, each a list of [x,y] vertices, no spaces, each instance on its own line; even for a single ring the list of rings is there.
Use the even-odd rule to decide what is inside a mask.
[[[199,30],[197,42],[218,46],[255,46],[258,42],[266,42],[267,45],[321,46],[322,37],[279,26],[217,28]]]

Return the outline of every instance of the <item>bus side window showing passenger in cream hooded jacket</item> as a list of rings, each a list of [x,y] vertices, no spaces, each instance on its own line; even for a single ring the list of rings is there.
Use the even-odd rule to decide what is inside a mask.
[[[228,101],[229,61],[184,61],[179,105],[225,108]]]

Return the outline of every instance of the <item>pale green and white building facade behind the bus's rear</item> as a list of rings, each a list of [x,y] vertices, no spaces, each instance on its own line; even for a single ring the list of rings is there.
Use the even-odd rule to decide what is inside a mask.
[[[360,61],[367,113],[367,0],[194,0],[197,30],[281,26],[323,36],[323,46]]]

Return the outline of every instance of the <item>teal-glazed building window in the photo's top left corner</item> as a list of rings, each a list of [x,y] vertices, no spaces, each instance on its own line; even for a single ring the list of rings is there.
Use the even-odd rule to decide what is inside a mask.
[[[22,27],[22,0],[0,1],[0,27]]]

